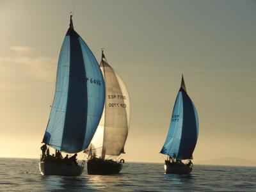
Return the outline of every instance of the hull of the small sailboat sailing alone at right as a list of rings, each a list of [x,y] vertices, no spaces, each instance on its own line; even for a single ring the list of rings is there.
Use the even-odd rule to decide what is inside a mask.
[[[177,163],[170,163],[168,161],[164,164],[164,170],[166,174],[188,174],[192,172],[193,167],[188,166],[188,164],[177,164]]]

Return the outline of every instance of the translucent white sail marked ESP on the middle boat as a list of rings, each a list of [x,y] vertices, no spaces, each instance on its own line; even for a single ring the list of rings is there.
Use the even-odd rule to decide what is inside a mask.
[[[108,64],[103,51],[100,69],[105,81],[106,101],[90,153],[104,159],[105,156],[119,156],[124,152],[130,125],[130,99],[124,82]]]

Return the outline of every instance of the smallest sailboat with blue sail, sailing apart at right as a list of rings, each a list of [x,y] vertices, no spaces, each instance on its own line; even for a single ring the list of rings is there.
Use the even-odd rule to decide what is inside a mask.
[[[189,98],[182,75],[180,90],[177,95],[168,135],[161,154],[167,155],[164,164],[165,173],[188,174],[193,169],[193,151],[198,138],[198,115]],[[188,163],[182,160],[188,159]]]

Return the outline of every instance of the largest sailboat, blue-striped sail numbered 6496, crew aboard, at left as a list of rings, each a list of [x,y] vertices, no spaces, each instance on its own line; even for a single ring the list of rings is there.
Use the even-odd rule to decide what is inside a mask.
[[[99,125],[104,102],[105,85],[99,64],[74,30],[70,14],[69,28],[58,61],[51,115],[42,143],[68,154],[83,151]],[[71,176],[83,172],[83,165],[46,161],[49,154],[43,152],[43,156],[39,163],[42,175]]]

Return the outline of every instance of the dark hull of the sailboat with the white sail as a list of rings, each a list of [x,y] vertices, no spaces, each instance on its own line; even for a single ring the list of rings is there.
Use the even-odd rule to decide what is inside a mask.
[[[87,172],[90,175],[111,175],[119,173],[123,164],[105,159],[89,159],[87,161]]]

